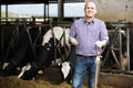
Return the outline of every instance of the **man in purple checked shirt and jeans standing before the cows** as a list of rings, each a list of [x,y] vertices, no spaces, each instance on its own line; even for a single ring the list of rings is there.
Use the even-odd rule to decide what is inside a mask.
[[[105,46],[109,41],[105,23],[95,19],[95,3],[86,1],[84,6],[84,18],[75,20],[70,29],[70,43],[75,45],[76,54],[72,88],[82,87],[86,70],[89,72],[89,88],[94,88],[95,58],[102,52],[101,47]]]

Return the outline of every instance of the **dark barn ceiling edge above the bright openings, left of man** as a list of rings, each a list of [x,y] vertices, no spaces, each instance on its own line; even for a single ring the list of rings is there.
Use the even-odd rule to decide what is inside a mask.
[[[64,2],[83,2],[84,0],[63,0]],[[57,3],[58,0],[0,0],[1,4],[27,4],[27,3]]]

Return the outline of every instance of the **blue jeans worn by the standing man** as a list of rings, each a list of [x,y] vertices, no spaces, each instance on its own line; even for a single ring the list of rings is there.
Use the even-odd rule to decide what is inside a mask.
[[[94,78],[95,78],[95,56],[93,57],[84,57],[76,56],[75,65],[74,65],[74,74],[72,79],[72,88],[81,88],[83,77],[88,70],[88,85],[89,88],[94,88]],[[100,72],[100,64],[98,72]]]

